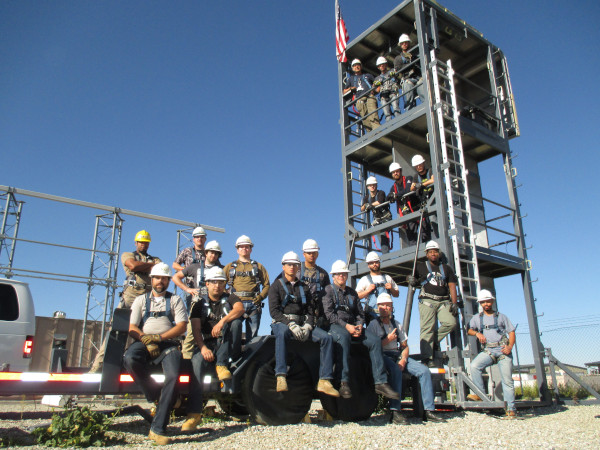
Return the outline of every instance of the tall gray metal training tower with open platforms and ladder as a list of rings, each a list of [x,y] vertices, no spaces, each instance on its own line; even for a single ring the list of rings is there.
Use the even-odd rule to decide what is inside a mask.
[[[506,58],[479,31],[437,2],[406,0],[350,42],[348,61],[358,58],[363,72],[379,75],[377,58],[386,57],[391,63],[400,53],[396,43],[402,33],[410,36],[409,51],[418,55],[413,65],[420,68],[418,84],[423,83],[425,98],[420,97],[420,104],[403,108],[389,121],[382,120],[372,131],[365,132],[354,108],[356,99],[342,93],[350,67],[338,66],[345,236],[351,276],[356,282],[369,272],[366,252],[373,249],[374,237],[388,233],[395,237],[394,248],[381,255],[382,271],[406,285],[415,246],[407,242],[403,226],[418,222],[419,212],[394,215],[392,220],[371,226],[368,214],[360,212],[358,196],[362,198],[364,180],[370,175],[378,177],[380,186],[391,185],[388,167],[392,162],[402,166],[403,175],[413,175],[411,158],[421,155],[434,177],[425,217],[442,254],[457,273],[463,301],[460,327],[445,354],[456,386],[454,403],[465,406],[468,390],[473,391],[467,369],[479,346],[476,338],[467,336],[465,325],[478,312],[477,292],[482,288],[494,291],[494,280],[509,275],[522,279],[537,383],[547,400],[544,349],[509,146],[509,140],[519,135],[519,125]],[[405,96],[402,92],[401,97]],[[377,114],[381,113],[379,106]],[[484,190],[502,195],[498,194],[502,186],[486,185],[480,177],[480,165],[488,160],[500,162],[499,169],[505,174],[503,200],[483,195]],[[381,183],[386,179],[388,183]],[[485,406],[491,404],[494,402]]]

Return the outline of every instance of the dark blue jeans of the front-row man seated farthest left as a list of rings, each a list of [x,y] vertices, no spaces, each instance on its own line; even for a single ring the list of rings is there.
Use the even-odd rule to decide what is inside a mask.
[[[165,374],[165,382],[162,389],[159,384],[150,377],[150,354],[146,346],[137,341],[131,344],[125,352],[123,363],[127,371],[131,374],[137,385],[140,387],[146,400],[154,402],[159,400],[156,407],[156,415],[150,425],[150,430],[156,434],[164,435],[169,424],[169,414],[175,401],[175,390],[179,378],[179,365],[181,364],[181,352],[178,348],[169,346],[168,343],[158,344],[163,352],[169,349],[160,364]],[[170,348],[169,348],[170,347]],[[162,356],[162,355],[161,355]]]

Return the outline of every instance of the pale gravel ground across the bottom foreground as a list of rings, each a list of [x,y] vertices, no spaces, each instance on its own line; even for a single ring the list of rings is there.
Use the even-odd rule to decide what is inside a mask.
[[[127,400],[133,404],[137,400]],[[93,409],[110,412],[116,401],[84,401]],[[147,403],[140,403],[148,408]],[[219,420],[202,425],[196,433],[179,434],[183,418],[172,423],[169,432],[173,448],[594,448],[600,442],[600,405],[536,408],[520,411],[516,420],[481,412],[445,413],[446,423],[389,425],[380,414],[360,423],[319,420],[321,405],[313,402],[312,423],[269,427],[246,421]],[[35,444],[33,427],[49,424],[53,408],[39,400],[0,402],[0,443],[4,446]],[[146,449],[149,424],[139,415],[116,417],[110,427],[119,444],[110,448]]]

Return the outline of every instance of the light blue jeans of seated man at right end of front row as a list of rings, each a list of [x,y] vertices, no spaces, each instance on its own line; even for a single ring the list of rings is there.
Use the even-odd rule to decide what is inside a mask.
[[[392,389],[400,394],[402,393],[402,370],[400,370],[400,366],[397,363],[399,357],[400,352],[383,352],[383,362],[388,371]],[[419,384],[421,385],[421,398],[425,410],[435,411],[435,403],[433,402],[433,383],[431,382],[431,372],[429,371],[429,368],[414,359],[408,358],[404,369],[418,378]],[[390,400],[390,409],[393,411],[400,411],[402,409],[400,400]]]

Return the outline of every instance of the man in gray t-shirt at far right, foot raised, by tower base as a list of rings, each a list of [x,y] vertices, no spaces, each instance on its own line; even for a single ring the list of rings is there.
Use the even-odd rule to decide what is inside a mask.
[[[486,367],[498,364],[502,378],[502,393],[506,402],[506,416],[517,417],[515,409],[515,385],[512,379],[512,348],[515,345],[515,327],[508,317],[494,311],[496,298],[487,289],[477,294],[477,301],[483,309],[473,316],[469,322],[467,333],[479,340],[483,351],[471,361],[471,378],[481,392],[485,392],[482,373]],[[508,333],[508,336],[507,336]],[[481,401],[475,394],[469,394],[467,399]]]

